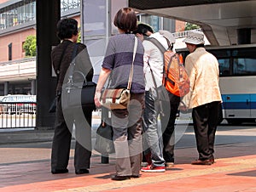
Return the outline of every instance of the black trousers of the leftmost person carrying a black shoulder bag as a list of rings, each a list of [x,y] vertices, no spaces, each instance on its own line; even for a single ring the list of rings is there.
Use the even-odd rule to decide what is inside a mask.
[[[52,170],[67,168],[73,123],[75,124],[76,138],[74,153],[75,170],[90,168],[91,110],[86,111],[86,109],[84,109],[82,113],[73,110],[67,111],[67,114],[65,112],[64,118],[61,108],[61,95],[59,95],[56,103],[55,134],[51,152]]]

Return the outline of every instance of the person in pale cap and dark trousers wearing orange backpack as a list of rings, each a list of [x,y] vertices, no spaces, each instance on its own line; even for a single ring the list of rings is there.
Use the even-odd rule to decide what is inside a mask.
[[[148,39],[160,49],[163,55],[163,76],[162,85],[168,93],[168,102],[164,102],[163,113],[160,114],[160,121],[163,132],[163,155],[166,167],[174,166],[174,145],[175,145],[175,120],[178,113],[180,99],[189,93],[189,75],[183,65],[183,57],[173,51],[175,38],[170,31],[159,31],[168,42],[168,48],[154,38]],[[170,109],[168,108],[170,106]],[[166,124],[167,122],[167,124]]]

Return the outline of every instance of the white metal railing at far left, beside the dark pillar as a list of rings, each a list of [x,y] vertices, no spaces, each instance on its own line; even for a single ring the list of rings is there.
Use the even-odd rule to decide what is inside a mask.
[[[35,102],[0,103],[1,128],[36,127]]]

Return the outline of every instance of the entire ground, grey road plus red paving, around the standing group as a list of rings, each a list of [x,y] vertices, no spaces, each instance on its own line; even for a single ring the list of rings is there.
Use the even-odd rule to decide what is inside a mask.
[[[35,135],[33,132],[41,134],[32,130],[15,134],[32,136]],[[12,133],[3,135],[8,134]],[[183,136],[179,138],[180,135]],[[216,163],[212,166],[190,165],[197,156],[193,127],[189,126],[184,132],[183,125],[177,126],[177,138],[174,167],[167,168],[166,172],[142,172],[141,178],[122,182],[110,179],[114,173],[114,158],[110,158],[109,164],[102,164],[100,155],[95,151],[91,157],[90,174],[74,174],[71,150],[69,172],[52,175],[51,141],[0,144],[0,191],[256,191],[255,125],[218,127]]]

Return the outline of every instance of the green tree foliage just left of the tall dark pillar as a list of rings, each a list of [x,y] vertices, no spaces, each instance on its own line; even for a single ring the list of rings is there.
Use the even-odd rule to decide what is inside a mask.
[[[36,36],[26,37],[26,41],[23,44],[26,57],[33,57],[37,54],[37,38]]]

